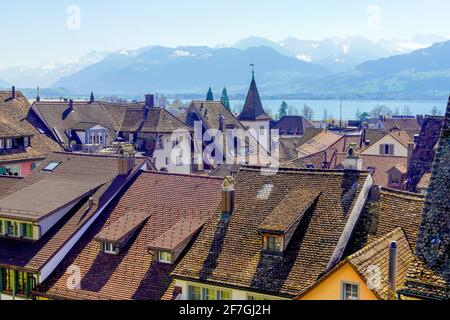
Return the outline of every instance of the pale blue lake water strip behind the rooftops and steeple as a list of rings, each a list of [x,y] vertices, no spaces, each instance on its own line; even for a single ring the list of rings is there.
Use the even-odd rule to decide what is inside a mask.
[[[327,110],[329,117],[339,119],[339,100],[285,100],[289,106],[292,106],[292,114],[300,114],[301,108],[304,105],[308,105],[314,110],[314,120],[323,120],[324,110]],[[230,100],[231,109],[239,111],[244,105],[244,100]],[[264,109],[270,112],[272,115],[278,114],[282,100],[262,100]],[[400,114],[404,106],[408,106],[412,115],[417,114],[431,114],[431,110],[434,106],[437,107],[440,114],[443,115],[445,108],[447,107],[447,101],[412,101],[412,100],[343,100],[342,101],[342,118],[343,120],[356,119],[356,111],[368,112],[377,105],[384,105],[392,111],[399,110]],[[239,108],[240,107],[240,108]]]

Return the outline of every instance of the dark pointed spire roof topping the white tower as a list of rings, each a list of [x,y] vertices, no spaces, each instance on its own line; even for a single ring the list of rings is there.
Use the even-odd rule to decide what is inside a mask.
[[[259,97],[258,87],[256,86],[255,65],[251,64],[250,66],[252,67],[252,82],[250,83],[250,88],[248,89],[244,108],[242,109],[238,119],[240,121],[270,121],[272,119],[264,112],[261,98]]]

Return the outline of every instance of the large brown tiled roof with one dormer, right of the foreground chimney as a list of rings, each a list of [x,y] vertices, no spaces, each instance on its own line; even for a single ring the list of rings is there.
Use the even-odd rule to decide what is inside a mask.
[[[229,222],[218,210],[172,273],[176,278],[295,297],[326,271],[367,173],[243,168]],[[259,226],[297,188],[321,193],[282,256],[262,254]]]

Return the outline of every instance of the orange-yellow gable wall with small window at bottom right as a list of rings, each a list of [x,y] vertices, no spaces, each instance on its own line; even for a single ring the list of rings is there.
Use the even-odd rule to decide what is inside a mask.
[[[331,276],[321,281],[319,285],[298,300],[341,300],[343,282],[359,285],[360,300],[378,300],[349,263],[341,266]]]

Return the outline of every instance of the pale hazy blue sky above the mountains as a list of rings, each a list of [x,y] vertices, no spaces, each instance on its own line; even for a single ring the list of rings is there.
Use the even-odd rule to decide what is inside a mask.
[[[448,0],[2,1],[0,68],[72,61],[93,50],[215,46],[248,36],[450,37],[449,12]]]

